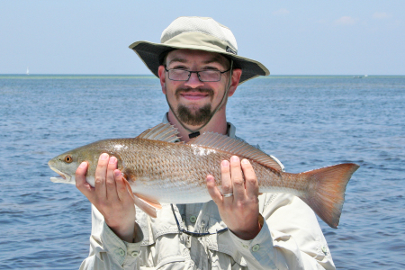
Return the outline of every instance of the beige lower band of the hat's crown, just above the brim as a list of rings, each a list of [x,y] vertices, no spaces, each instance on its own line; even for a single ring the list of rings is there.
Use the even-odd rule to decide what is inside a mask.
[[[202,32],[194,31],[178,34],[162,44],[179,49],[201,49],[219,53],[229,53],[230,48],[229,44],[225,41]],[[230,49],[232,53],[236,52],[236,49]]]

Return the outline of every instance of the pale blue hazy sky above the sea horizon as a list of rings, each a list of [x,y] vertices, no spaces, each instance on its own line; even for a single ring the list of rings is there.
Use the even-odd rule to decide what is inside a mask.
[[[228,26],[272,75],[405,75],[403,0],[0,0],[0,74],[150,74],[128,46],[179,16]]]

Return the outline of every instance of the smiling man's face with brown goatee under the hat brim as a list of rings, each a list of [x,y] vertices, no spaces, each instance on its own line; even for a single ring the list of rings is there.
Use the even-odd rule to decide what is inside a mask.
[[[218,53],[176,49],[167,54],[166,68],[222,72],[229,69],[229,60]],[[162,66],[159,67],[159,75],[161,81],[162,76],[165,76],[163,92],[177,118],[185,124],[200,126],[210,120],[212,111],[220,104],[229,84],[230,72],[223,73],[219,82],[201,82],[195,73],[188,81],[173,81],[168,78],[165,69],[162,70]]]

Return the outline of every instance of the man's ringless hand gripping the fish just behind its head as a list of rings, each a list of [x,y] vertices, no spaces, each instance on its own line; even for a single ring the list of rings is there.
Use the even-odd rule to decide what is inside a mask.
[[[135,206],[127,191],[117,158],[102,154],[95,170],[94,187],[85,181],[87,163],[76,170],[76,187],[103,214],[107,225],[124,241],[132,242],[135,229]]]

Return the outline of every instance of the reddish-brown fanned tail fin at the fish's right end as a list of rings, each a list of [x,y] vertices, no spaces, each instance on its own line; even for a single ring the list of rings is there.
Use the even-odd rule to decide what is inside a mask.
[[[306,175],[309,193],[301,197],[321,220],[338,229],[348,181],[359,166],[354,163],[326,166],[302,173]]]

